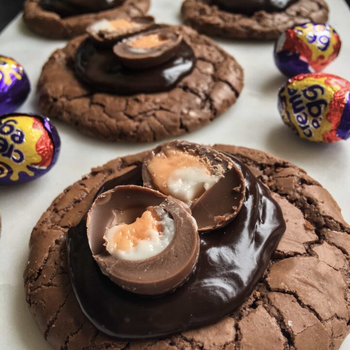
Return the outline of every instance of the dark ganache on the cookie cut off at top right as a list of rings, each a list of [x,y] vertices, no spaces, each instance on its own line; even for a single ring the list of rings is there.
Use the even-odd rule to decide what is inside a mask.
[[[283,11],[297,0],[212,0],[219,8],[235,13],[252,15],[257,11]]]

